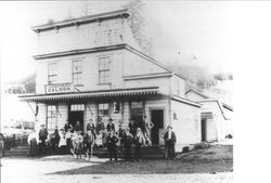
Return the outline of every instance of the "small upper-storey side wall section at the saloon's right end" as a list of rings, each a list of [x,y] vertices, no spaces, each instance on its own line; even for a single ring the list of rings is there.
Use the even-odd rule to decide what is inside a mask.
[[[173,95],[185,96],[185,80],[173,75],[170,79],[171,91]]]

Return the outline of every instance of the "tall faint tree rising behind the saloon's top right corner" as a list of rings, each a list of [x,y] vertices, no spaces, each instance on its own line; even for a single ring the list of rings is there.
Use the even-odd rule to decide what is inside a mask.
[[[131,16],[128,18],[128,24],[131,27],[136,41],[147,55],[152,55],[152,39],[146,35],[145,19],[143,16],[144,3],[142,0],[130,0],[124,8],[128,9]]]

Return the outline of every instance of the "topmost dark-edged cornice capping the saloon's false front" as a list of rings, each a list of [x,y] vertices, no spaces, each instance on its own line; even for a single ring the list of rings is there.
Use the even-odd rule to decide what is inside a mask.
[[[122,10],[117,10],[117,11],[93,14],[89,16],[81,16],[78,18],[69,18],[69,19],[64,19],[64,21],[54,22],[54,23],[47,23],[43,25],[34,26],[31,27],[31,29],[36,32],[39,32],[39,31],[50,30],[50,29],[60,28],[60,27],[75,26],[75,25],[80,25],[80,24],[86,24],[86,23],[91,23],[91,22],[101,22],[103,19],[111,19],[111,18],[116,18],[116,17],[127,18],[129,16],[130,16],[130,13],[128,12],[128,9],[122,9]]]

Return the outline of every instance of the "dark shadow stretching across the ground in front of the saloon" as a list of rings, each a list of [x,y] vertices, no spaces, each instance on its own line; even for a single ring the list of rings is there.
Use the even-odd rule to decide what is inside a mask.
[[[83,161],[83,160],[79,160]],[[232,146],[212,146],[193,151],[176,160],[144,160],[142,162],[93,161],[81,168],[50,174],[155,174],[155,173],[216,173],[233,171]]]

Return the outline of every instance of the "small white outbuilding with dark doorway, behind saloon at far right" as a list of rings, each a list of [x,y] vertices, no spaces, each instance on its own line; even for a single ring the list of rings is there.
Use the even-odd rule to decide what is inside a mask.
[[[210,97],[195,89],[185,92],[188,99],[202,104],[202,141],[212,142],[233,135],[233,108],[218,99]]]

